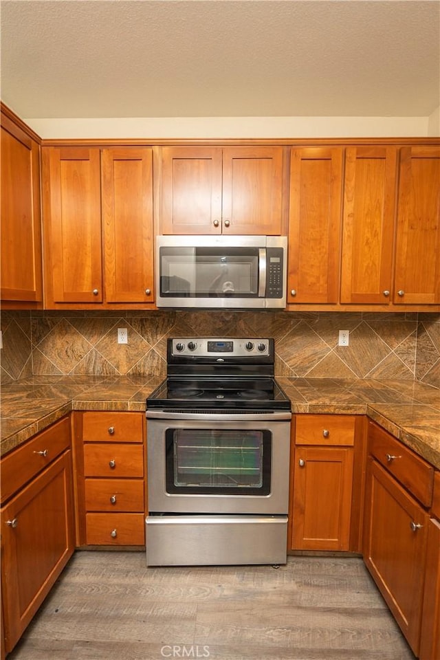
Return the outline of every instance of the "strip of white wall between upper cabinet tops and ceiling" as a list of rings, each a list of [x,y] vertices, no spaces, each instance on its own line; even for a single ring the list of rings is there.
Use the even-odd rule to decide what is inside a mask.
[[[23,118],[43,139],[234,137],[427,137],[440,135],[428,117],[168,117]],[[429,124],[429,126],[428,126]],[[437,132],[435,132],[437,130]],[[434,131],[434,132],[432,132]]]

